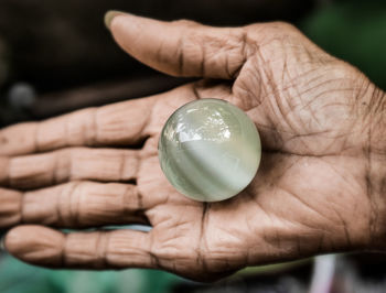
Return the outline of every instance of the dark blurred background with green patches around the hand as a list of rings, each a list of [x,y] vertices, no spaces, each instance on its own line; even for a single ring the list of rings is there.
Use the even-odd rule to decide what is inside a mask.
[[[386,89],[385,0],[1,0],[0,127],[186,82],[163,76],[118,48],[103,22],[110,9],[213,25],[289,21]],[[250,268],[204,285],[151,270],[52,271],[0,252],[0,293],[386,292],[385,264],[380,254],[324,256]]]

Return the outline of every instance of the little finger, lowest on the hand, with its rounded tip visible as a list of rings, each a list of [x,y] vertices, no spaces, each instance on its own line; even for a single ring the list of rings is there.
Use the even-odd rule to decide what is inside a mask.
[[[149,234],[133,230],[62,234],[41,226],[19,226],[4,240],[18,259],[49,268],[156,268]]]

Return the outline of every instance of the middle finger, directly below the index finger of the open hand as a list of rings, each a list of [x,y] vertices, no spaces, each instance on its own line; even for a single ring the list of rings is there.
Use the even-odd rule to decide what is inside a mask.
[[[18,189],[68,181],[128,182],[137,178],[140,151],[71,148],[51,153],[0,159],[0,184]]]

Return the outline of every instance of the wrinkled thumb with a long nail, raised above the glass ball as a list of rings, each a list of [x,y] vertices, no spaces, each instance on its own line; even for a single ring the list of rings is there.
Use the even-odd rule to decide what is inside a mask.
[[[106,20],[126,52],[170,75],[232,79],[247,57],[243,28],[164,22],[117,12],[106,14]]]

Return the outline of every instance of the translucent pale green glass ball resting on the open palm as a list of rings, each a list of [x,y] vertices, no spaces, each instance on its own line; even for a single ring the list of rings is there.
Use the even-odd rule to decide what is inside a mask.
[[[219,99],[199,99],[171,115],[158,144],[161,169],[183,195],[218,202],[255,177],[260,138],[250,118]]]

